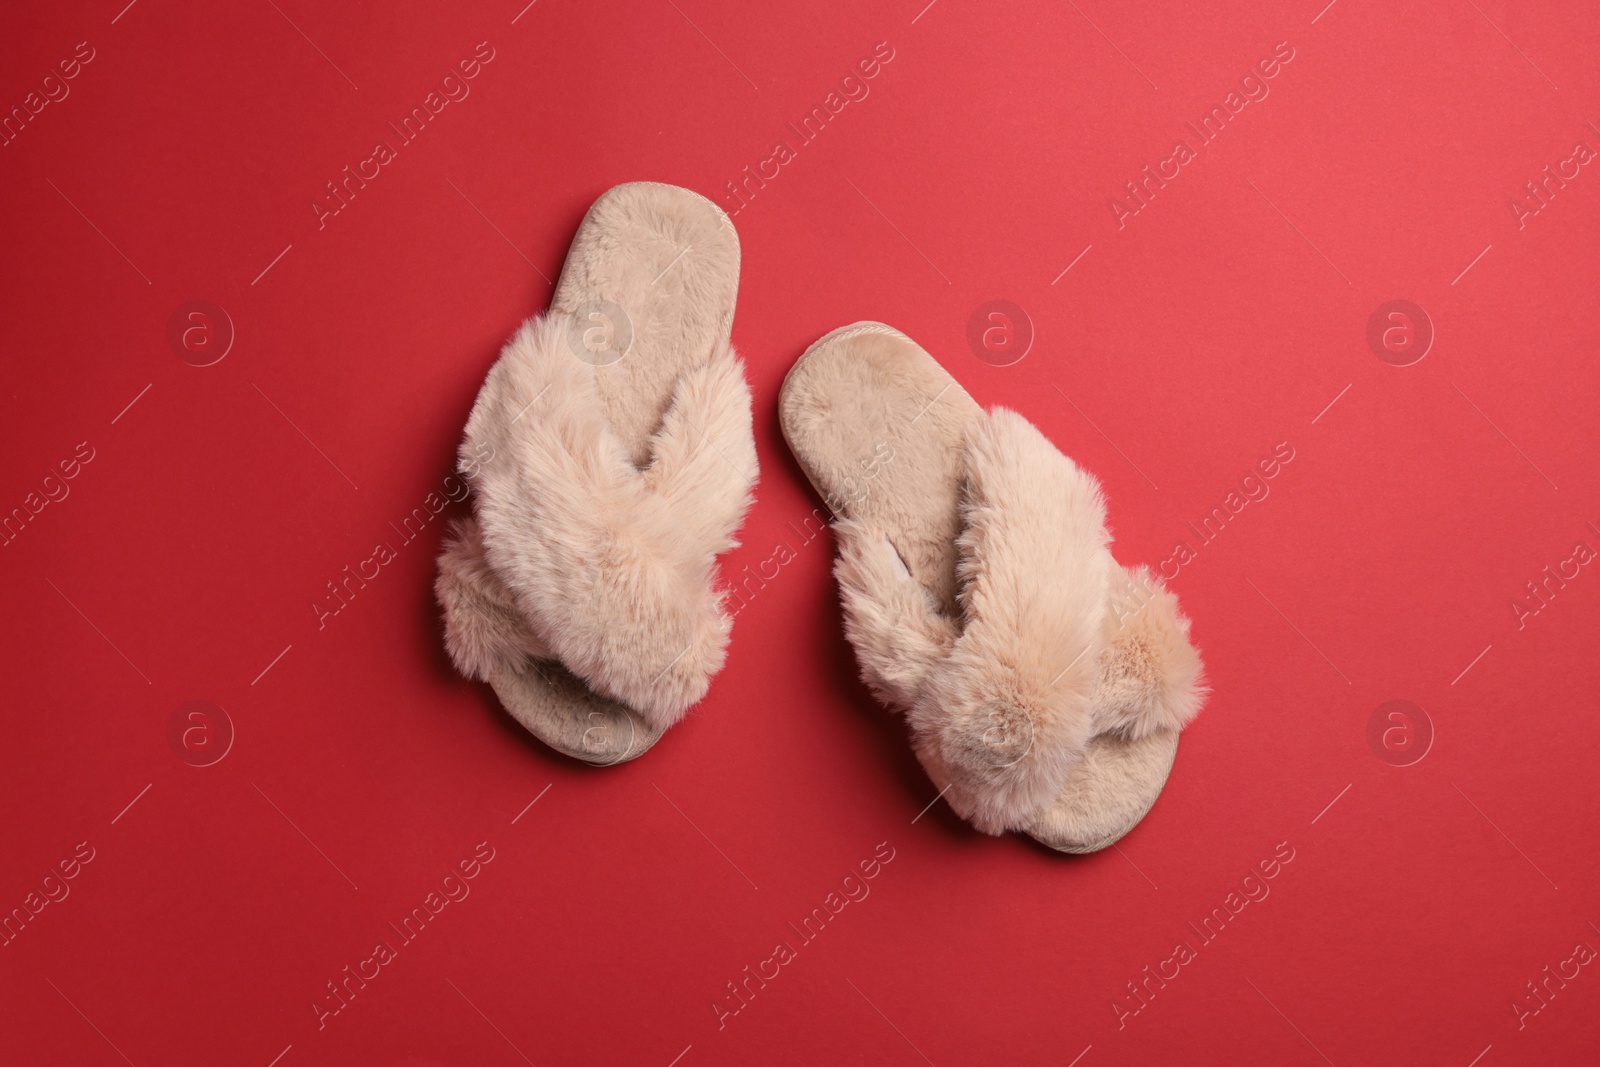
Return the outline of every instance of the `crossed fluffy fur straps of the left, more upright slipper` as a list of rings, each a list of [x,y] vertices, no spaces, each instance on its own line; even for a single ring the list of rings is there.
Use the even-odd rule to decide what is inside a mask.
[[[640,470],[602,411],[594,368],[566,347],[568,322],[530,320],[467,421],[461,456],[483,561],[538,645],[666,728],[723,664],[731,622],[714,577],[757,478],[750,392],[720,346],[678,379]],[[451,651],[472,670],[486,641],[510,637],[478,621]]]

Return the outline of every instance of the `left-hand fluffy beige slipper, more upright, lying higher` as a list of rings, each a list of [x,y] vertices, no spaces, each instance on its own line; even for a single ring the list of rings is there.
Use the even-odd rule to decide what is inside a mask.
[[[717,555],[757,478],[750,390],[728,344],[739,238],[656,182],[589,208],[550,310],[478,392],[435,592],[445,648],[552,749],[621,763],[699,701],[731,616]]]

